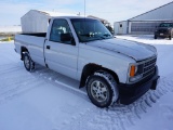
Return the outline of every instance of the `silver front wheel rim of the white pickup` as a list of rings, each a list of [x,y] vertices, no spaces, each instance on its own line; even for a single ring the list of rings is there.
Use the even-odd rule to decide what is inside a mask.
[[[91,94],[97,102],[105,102],[109,98],[108,88],[99,80],[91,83]]]

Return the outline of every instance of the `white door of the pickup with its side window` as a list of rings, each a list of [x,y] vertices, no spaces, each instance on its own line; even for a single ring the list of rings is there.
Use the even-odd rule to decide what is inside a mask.
[[[49,68],[71,78],[77,77],[78,47],[72,41],[62,41],[61,35],[72,37],[68,22],[64,18],[53,21],[50,37],[44,44],[45,63]]]

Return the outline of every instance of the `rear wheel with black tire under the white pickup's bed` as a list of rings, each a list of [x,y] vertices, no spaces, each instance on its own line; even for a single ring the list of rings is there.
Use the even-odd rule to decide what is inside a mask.
[[[25,66],[26,70],[32,72],[35,69],[35,63],[30,58],[28,52],[23,53],[23,60],[24,60],[24,66]]]

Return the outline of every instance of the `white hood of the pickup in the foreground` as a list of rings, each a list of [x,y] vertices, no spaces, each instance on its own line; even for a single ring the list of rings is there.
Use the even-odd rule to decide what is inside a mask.
[[[142,61],[157,55],[157,50],[152,46],[117,38],[92,41],[88,42],[86,44],[114,51],[116,53],[132,57],[135,61]]]

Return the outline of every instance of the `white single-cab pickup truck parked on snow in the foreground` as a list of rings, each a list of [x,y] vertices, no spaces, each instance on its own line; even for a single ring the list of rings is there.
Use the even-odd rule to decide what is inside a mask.
[[[115,38],[97,20],[53,17],[46,34],[15,36],[15,51],[28,72],[35,63],[79,80],[98,107],[130,104],[155,90],[155,47]]]

